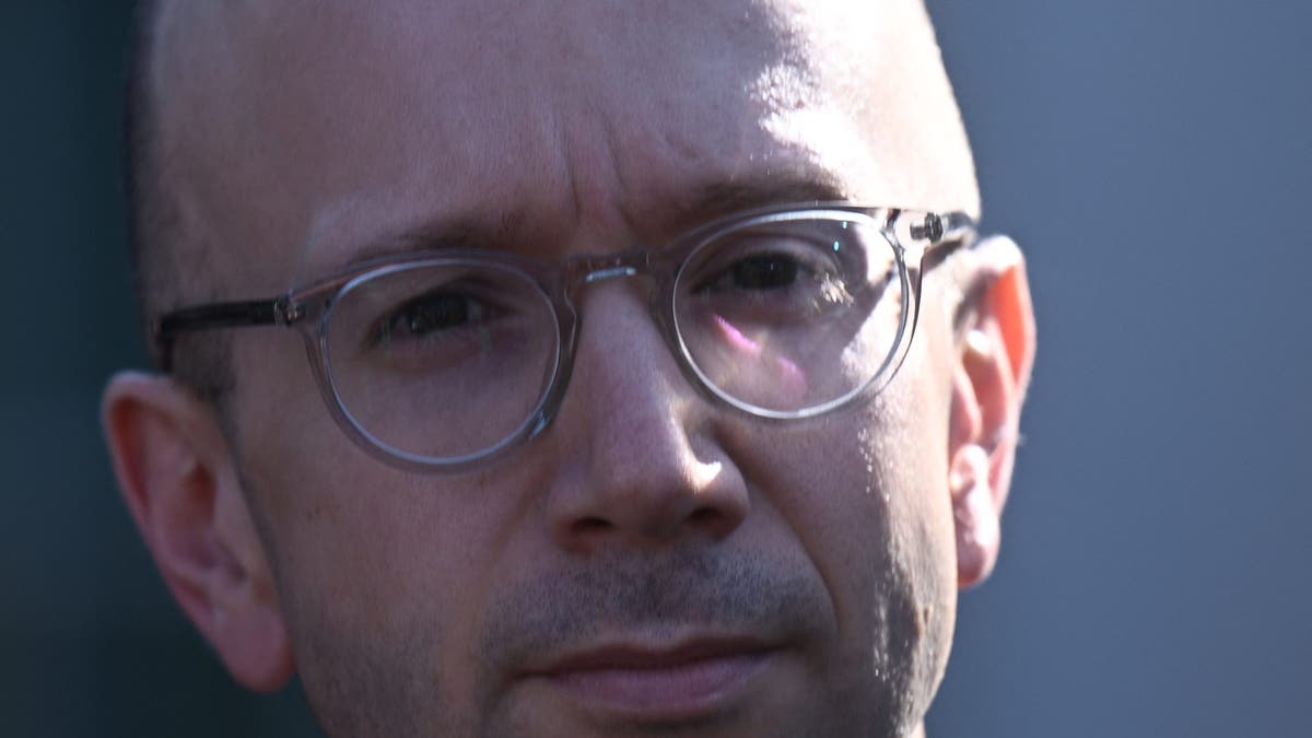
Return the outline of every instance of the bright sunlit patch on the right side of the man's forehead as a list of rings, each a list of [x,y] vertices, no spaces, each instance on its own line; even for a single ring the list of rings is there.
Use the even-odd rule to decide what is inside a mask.
[[[766,70],[756,92],[782,143],[899,197],[880,205],[979,217],[975,163],[920,0],[781,0],[798,63]]]

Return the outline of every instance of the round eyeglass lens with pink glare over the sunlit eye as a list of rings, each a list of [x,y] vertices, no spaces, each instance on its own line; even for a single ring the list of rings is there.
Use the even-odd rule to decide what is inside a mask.
[[[693,256],[674,315],[693,365],[731,402],[802,411],[865,387],[893,352],[899,261],[871,222],[760,223]]]

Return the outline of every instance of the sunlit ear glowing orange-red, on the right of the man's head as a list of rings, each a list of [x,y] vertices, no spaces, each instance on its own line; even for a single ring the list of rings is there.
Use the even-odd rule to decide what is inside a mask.
[[[958,586],[981,582],[997,562],[1000,517],[1012,483],[1021,403],[1034,365],[1034,309],[1025,257],[989,238],[962,253],[949,440],[956,523]]]

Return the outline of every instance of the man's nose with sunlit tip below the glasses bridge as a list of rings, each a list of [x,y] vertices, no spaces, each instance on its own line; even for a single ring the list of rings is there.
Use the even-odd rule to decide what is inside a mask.
[[[680,372],[635,280],[583,292],[573,376],[548,431],[563,457],[552,536],[575,553],[729,536],[749,500],[715,439],[719,411]]]

